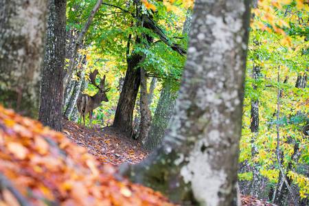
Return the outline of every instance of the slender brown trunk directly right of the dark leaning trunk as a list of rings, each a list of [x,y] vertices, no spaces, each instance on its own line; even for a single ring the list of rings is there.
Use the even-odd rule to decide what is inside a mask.
[[[146,71],[144,68],[140,69],[141,71],[141,88],[140,90],[140,100],[139,108],[141,112],[141,122],[139,125],[139,141],[144,142],[146,139],[150,124],[151,124],[151,112],[148,106],[148,92],[147,92],[147,77]]]

